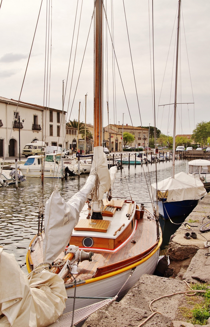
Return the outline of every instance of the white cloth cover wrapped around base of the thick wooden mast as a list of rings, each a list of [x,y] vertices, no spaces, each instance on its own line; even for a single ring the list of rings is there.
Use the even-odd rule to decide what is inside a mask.
[[[103,146],[96,146],[93,148],[93,162],[90,170],[90,175],[92,175],[94,171],[98,173],[100,181],[98,199],[102,200],[104,193],[109,191],[111,185],[108,162],[104,153]]]

